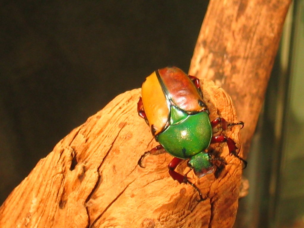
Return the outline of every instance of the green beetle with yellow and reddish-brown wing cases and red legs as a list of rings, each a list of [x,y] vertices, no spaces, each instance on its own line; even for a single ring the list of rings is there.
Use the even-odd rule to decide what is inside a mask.
[[[227,123],[223,118],[209,119],[209,109],[203,101],[199,79],[185,74],[178,67],[165,67],[154,71],[142,84],[141,97],[137,103],[138,115],[145,119],[155,140],[160,143],[145,152],[138,164],[148,154],[156,154],[164,149],[174,158],[168,164],[169,174],[180,184],[190,184],[204,200],[199,188],[188,180],[187,174],[175,171],[178,164],[188,159],[188,166],[197,177],[214,171],[213,158],[208,151],[211,143],[228,145],[229,153],[240,159],[247,166],[247,161],[237,154],[236,143],[225,135],[213,136],[212,128],[222,125],[223,130],[243,122]]]

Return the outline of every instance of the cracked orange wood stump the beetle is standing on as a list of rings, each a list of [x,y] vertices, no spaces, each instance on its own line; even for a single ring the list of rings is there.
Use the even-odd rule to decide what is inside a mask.
[[[201,81],[211,119],[236,122],[230,97],[212,81]],[[11,227],[231,227],[239,196],[242,164],[226,145],[215,147],[227,165],[214,174],[188,176],[208,198],[168,174],[168,154],[155,147],[149,127],[137,115],[140,89],[116,97],[74,129],[40,160],[0,209],[0,226]],[[227,136],[239,145],[240,126]],[[241,155],[241,152],[240,152]],[[186,162],[178,167],[186,172]],[[238,181],[235,181],[238,180]]]

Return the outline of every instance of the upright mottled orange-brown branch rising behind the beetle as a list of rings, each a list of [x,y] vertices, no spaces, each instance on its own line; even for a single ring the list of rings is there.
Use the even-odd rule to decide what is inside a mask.
[[[213,0],[195,46],[189,74],[216,82],[231,96],[244,153],[257,125],[291,0]]]

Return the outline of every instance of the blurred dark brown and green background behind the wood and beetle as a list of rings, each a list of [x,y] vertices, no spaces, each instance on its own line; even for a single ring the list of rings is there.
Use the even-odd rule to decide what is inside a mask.
[[[2,1],[0,204],[39,159],[157,68],[188,71],[208,1]],[[285,22],[234,227],[304,227],[304,0]],[[246,123],[246,120],[243,120]]]

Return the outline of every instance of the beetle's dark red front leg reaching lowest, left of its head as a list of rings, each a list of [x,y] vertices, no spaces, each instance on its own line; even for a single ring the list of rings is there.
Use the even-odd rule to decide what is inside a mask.
[[[181,184],[181,183],[185,183],[185,184],[188,183],[188,184],[192,185],[192,187],[195,188],[195,190],[199,193],[199,198],[200,198],[200,199],[199,199],[199,202],[205,200],[205,199],[203,198],[202,193],[201,193],[201,191],[199,190],[199,188],[198,188],[195,184],[193,184],[191,181],[188,180],[188,178],[187,178],[188,172],[187,172],[185,175],[182,175],[182,174],[180,174],[180,173],[178,173],[178,172],[175,171],[175,168],[178,166],[178,164],[179,164],[182,160],[183,160],[183,159],[181,159],[181,158],[174,157],[174,158],[172,159],[172,161],[170,161],[170,163],[168,164],[170,176],[173,178],[173,180],[178,181],[180,184]]]

